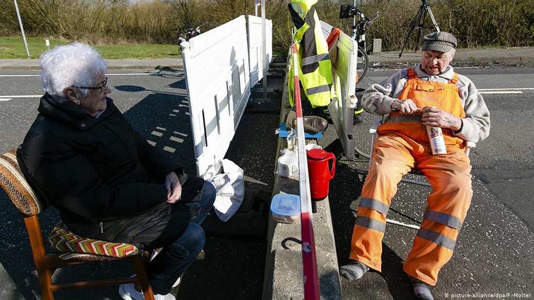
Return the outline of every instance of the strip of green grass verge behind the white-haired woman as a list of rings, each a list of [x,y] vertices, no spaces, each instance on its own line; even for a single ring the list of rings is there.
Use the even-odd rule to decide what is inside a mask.
[[[41,37],[30,37],[26,39],[30,56],[26,54],[26,48],[22,37],[0,37],[0,59],[26,59],[39,58],[41,53],[48,48],[45,39]],[[66,45],[72,41],[50,39],[50,47],[56,45]],[[94,45],[102,53],[105,59],[149,59],[149,58],[179,58],[178,45]]]

